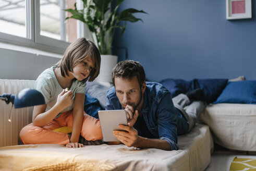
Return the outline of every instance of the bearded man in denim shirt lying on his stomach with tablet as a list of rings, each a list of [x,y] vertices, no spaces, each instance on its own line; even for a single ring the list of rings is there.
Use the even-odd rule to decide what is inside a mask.
[[[177,135],[189,132],[205,108],[202,101],[190,102],[203,96],[201,89],[172,100],[162,84],[145,82],[143,67],[133,60],[119,62],[112,80],[114,87],[106,92],[106,110],[125,109],[129,114],[128,126],[119,125],[125,131],[113,131],[127,146],[178,150]]]

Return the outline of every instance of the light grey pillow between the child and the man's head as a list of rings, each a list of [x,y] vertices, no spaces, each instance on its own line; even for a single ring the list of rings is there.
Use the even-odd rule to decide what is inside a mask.
[[[86,82],[86,93],[99,100],[101,107],[104,109],[106,107],[106,91],[108,89],[109,87],[106,87],[97,81]]]

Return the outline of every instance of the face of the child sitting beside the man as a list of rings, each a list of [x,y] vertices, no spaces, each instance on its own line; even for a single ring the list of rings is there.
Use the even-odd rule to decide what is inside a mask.
[[[80,63],[73,67],[72,75],[79,81],[87,78],[94,67],[91,57],[83,59]]]

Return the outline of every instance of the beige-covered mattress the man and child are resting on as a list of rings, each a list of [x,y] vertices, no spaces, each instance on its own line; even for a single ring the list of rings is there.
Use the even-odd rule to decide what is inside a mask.
[[[197,124],[178,136],[179,150],[136,149],[120,145],[89,145],[70,149],[59,144],[14,145],[0,148],[0,170],[22,170],[56,163],[101,163],[114,170],[204,170],[211,159],[210,129]]]

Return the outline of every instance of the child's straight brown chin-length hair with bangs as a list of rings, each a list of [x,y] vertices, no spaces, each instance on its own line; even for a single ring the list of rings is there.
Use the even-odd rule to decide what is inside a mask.
[[[93,81],[100,73],[101,55],[95,44],[85,38],[80,38],[72,42],[67,47],[63,58],[56,65],[60,68],[62,76],[65,77],[66,75],[68,76],[68,71],[72,72],[73,67],[87,57],[91,57],[94,67],[90,75],[82,81]]]

